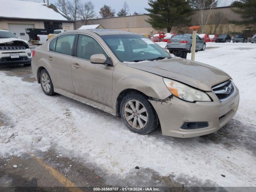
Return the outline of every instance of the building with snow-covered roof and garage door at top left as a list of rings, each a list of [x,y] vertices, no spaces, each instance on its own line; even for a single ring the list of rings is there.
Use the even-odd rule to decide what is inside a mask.
[[[25,28],[73,30],[74,21],[53,4],[0,0],[0,29],[29,40]]]

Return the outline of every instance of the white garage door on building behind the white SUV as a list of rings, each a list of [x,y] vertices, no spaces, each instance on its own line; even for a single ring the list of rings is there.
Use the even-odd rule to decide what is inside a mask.
[[[26,34],[26,28],[35,28],[34,24],[10,24],[8,23],[9,31],[16,34],[21,39],[29,41],[29,36]]]

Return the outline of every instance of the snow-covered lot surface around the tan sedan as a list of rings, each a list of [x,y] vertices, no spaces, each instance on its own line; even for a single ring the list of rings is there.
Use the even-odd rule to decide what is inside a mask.
[[[10,136],[0,142],[0,156],[54,149],[104,170],[110,184],[139,166],[186,186],[256,186],[256,44],[207,47],[196,60],[230,74],[241,95],[234,120],[218,132],[187,139],[162,136],[160,130],[134,134],[118,117],[64,96],[46,96],[36,82],[2,70],[0,113],[12,126],[0,125],[0,138]]]

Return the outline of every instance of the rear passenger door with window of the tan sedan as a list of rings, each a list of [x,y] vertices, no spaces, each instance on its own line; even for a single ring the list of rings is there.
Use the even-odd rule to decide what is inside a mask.
[[[54,87],[73,92],[71,60],[76,34],[64,34],[49,43],[47,56]]]

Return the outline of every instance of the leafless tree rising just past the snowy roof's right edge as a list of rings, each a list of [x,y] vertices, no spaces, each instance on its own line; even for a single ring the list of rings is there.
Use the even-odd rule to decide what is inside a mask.
[[[80,9],[80,0],[67,1],[67,14],[72,20],[77,21],[80,18]],[[76,28],[76,23],[74,23],[74,27]]]

